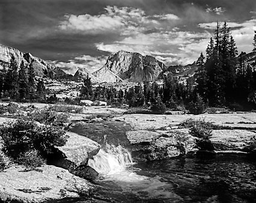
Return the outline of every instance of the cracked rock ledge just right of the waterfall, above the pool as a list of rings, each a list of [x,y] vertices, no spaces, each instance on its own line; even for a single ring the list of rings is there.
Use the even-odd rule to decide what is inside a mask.
[[[135,130],[126,133],[131,142],[132,156],[136,160],[163,160],[194,153],[196,139],[189,134],[172,132],[151,132],[147,130]]]

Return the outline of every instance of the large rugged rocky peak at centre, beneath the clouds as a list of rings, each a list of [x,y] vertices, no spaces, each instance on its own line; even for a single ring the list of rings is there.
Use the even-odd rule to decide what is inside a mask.
[[[158,79],[165,69],[166,66],[152,56],[120,50],[110,55],[106,64],[92,74],[102,82],[144,82]]]

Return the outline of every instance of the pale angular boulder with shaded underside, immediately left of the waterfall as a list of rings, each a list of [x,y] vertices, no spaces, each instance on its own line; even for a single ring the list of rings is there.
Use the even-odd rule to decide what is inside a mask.
[[[53,165],[68,169],[70,172],[80,165],[86,165],[89,158],[96,155],[101,148],[97,142],[76,133],[67,132],[69,139],[62,147],[56,147],[58,151],[52,160]]]

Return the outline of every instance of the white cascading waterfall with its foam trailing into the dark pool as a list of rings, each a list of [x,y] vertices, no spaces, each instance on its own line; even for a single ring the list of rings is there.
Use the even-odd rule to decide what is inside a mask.
[[[131,154],[122,146],[105,145],[104,149],[89,159],[88,165],[94,168],[103,181],[117,184],[122,192],[132,192],[137,195],[161,196],[169,198],[170,196],[179,198],[172,192],[172,184],[160,181],[160,177],[146,177],[138,175],[133,168]]]

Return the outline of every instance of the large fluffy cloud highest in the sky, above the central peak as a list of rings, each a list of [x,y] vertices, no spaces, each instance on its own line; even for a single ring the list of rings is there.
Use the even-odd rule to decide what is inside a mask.
[[[160,28],[163,21],[170,23],[178,20],[175,14],[147,16],[140,8],[107,6],[100,15],[66,14],[60,22],[62,31],[81,32],[83,34],[101,34],[102,32],[119,32],[120,34],[136,34],[140,31]]]

